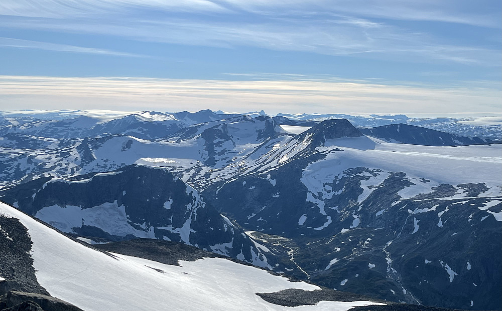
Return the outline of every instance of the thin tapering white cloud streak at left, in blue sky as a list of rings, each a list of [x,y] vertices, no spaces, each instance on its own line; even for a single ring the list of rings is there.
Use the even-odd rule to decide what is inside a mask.
[[[31,40],[22,40],[22,39],[4,38],[4,37],[0,37],[0,47],[38,49],[47,51],[72,52],[72,53],[89,53],[89,54],[124,56],[124,57],[146,57],[144,55],[117,52],[105,49],[84,48],[66,44],[55,44],[41,41],[31,41]]]

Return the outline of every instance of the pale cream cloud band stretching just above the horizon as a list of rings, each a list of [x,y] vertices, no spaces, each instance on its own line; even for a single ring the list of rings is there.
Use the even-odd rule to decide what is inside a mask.
[[[499,113],[498,86],[390,85],[364,80],[226,81],[0,76],[0,110],[214,110],[269,113]]]

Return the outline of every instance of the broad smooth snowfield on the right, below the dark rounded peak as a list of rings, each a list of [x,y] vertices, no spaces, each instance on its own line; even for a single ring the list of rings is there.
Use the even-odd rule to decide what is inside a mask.
[[[415,185],[400,191],[403,199],[420,193],[432,192],[431,188],[442,183],[482,183],[490,188],[482,196],[500,195],[502,176],[502,145],[471,145],[455,147],[431,147],[394,144],[376,138],[340,138],[329,141],[329,147],[319,147],[327,153],[325,159],[311,163],[303,172],[302,182],[309,191],[326,195],[324,184],[334,176],[355,167],[380,169],[382,177],[387,172],[405,172]],[[343,152],[333,151],[336,147]],[[421,182],[419,178],[430,180]],[[371,181],[374,181],[371,183]],[[382,178],[368,180],[367,186],[378,185]],[[461,197],[461,193],[459,193]]]

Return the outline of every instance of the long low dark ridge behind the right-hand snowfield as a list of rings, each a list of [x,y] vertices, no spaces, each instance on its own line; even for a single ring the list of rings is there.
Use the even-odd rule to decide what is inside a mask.
[[[490,139],[459,136],[408,124],[390,124],[373,128],[360,128],[359,131],[367,136],[391,142],[424,146],[458,146],[494,142]]]

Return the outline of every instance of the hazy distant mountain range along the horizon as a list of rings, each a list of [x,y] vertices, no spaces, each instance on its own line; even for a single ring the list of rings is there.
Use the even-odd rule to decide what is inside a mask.
[[[100,110],[0,111],[0,135],[23,133],[48,138],[98,137],[133,134],[137,138],[155,139],[180,128],[198,123],[248,115],[267,116],[260,112],[246,114],[201,110],[198,112],[162,113],[155,111],[113,112]],[[274,116],[271,116],[274,117]],[[285,125],[312,126],[328,119],[347,119],[355,127],[378,127],[408,124],[459,136],[502,139],[502,117],[410,118],[406,115],[353,116],[347,114],[277,114],[276,121]]]

